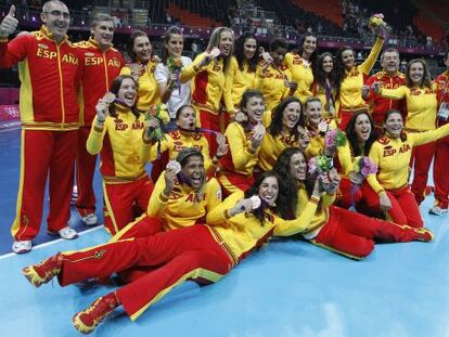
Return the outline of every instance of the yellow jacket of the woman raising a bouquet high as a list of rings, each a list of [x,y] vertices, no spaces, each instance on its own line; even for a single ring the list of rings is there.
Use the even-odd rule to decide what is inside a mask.
[[[383,43],[384,40],[377,38],[367,60],[364,60],[362,64],[354,66],[349,72],[346,70],[346,76],[342,81],[338,98],[341,109],[354,112],[368,107],[361,96],[361,89],[364,81],[368,79],[368,74],[370,74],[375,60],[381,53]]]

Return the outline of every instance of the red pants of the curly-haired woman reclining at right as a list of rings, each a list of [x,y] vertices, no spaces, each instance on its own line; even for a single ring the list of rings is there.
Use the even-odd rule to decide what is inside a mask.
[[[311,242],[344,256],[362,259],[374,249],[374,242],[408,243],[418,237],[413,228],[331,206],[328,222]]]

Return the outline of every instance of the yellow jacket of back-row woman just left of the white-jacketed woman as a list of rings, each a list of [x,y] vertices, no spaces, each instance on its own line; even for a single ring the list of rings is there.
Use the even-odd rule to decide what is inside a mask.
[[[161,103],[159,86],[154,77],[157,63],[150,61],[141,70],[138,89],[138,109],[146,112],[150,106]],[[125,66],[120,75],[131,75],[131,69]]]

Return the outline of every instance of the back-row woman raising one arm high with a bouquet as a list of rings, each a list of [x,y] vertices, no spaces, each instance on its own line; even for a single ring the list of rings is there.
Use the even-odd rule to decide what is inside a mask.
[[[354,113],[368,108],[362,98],[362,88],[383,44],[384,39],[379,36],[367,60],[360,65],[356,65],[356,53],[352,48],[344,47],[337,51],[334,65],[338,105],[336,121],[341,130],[346,129]]]

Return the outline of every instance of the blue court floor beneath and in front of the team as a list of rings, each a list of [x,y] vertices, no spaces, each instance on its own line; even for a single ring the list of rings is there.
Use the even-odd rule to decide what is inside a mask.
[[[20,131],[1,132],[0,336],[79,336],[72,316],[113,288],[61,288],[54,281],[36,289],[21,270],[108,236],[94,228],[76,241],[48,242],[41,233],[30,254],[9,254],[18,155]],[[305,242],[273,239],[219,283],[184,283],[136,322],[118,310],[92,335],[449,336],[449,217],[429,216],[432,203],[428,196],[422,206],[432,243],[377,245],[365,260],[352,261]],[[70,222],[86,229],[75,213]]]

